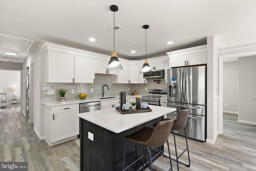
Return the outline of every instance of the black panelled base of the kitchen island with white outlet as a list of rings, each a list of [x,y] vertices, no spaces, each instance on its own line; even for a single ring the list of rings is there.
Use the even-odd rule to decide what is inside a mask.
[[[114,133],[94,123],[80,118],[80,170],[81,171],[122,171],[124,155],[124,137],[143,127],[152,127],[153,123],[162,120],[159,117],[121,133]],[[88,131],[93,133],[94,141],[88,139]],[[152,149],[152,156],[163,147]],[[146,160],[148,152],[146,151]],[[143,148],[130,142],[127,143],[125,167],[143,154]],[[158,155],[154,160],[156,160]],[[154,161],[153,160],[153,161]],[[127,169],[135,171],[142,165],[142,159]],[[144,167],[146,169],[146,167]]]

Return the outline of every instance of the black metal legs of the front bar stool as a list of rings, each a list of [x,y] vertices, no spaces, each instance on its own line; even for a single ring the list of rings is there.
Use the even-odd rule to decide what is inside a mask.
[[[131,142],[132,142],[132,141],[131,141]],[[142,165],[138,170],[140,170],[140,169],[144,170],[144,166],[147,165],[148,163],[149,163],[150,171],[155,170],[155,169],[152,169],[152,159],[154,159],[158,154],[160,154],[160,152],[157,153],[154,157],[151,157],[151,150],[152,150],[153,148],[148,148],[148,147],[139,145],[139,144],[134,143],[134,142],[132,142],[132,143],[134,143],[134,144],[136,144],[136,145],[138,145],[138,146],[144,148],[144,150],[143,150],[144,153],[143,153],[142,156],[140,156],[138,159],[136,159],[134,162],[132,162],[130,165],[128,165],[126,168],[124,168],[125,153],[126,153],[126,143],[127,143],[127,140],[126,140],[125,143],[124,143],[124,160],[123,160],[122,171],[125,171],[126,169],[128,169],[128,167],[130,167],[131,165],[133,165],[134,163],[136,163],[136,162],[137,162],[139,159],[141,159],[142,157],[143,157],[143,165]],[[168,140],[167,140],[167,146],[168,146],[168,153],[169,153],[170,165],[171,165],[171,168],[169,169],[169,171],[172,171],[172,160],[171,160],[170,147],[169,147],[169,142],[168,142]],[[145,162],[145,149],[148,150],[148,155],[149,155],[149,161],[147,161],[147,162]],[[162,153],[162,152],[161,152],[161,153]]]

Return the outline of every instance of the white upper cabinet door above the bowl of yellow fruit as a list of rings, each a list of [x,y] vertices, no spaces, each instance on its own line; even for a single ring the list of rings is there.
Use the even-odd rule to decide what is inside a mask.
[[[75,55],[75,83],[94,83],[96,59]]]

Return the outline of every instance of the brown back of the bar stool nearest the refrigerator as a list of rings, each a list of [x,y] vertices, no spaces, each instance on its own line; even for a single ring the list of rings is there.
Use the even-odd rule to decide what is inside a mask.
[[[172,125],[172,130],[178,131],[186,126],[188,122],[188,113],[189,113],[189,107],[187,107],[186,109],[180,110],[176,120]]]

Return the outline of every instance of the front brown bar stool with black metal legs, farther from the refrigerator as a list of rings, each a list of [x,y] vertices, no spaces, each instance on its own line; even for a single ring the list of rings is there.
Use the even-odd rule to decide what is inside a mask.
[[[174,122],[174,117],[171,119],[166,119],[164,121],[158,122],[156,125],[156,128],[149,128],[149,127],[144,127],[140,129],[139,131],[132,133],[131,135],[128,135],[125,137],[125,145],[124,145],[124,160],[123,160],[123,168],[122,171],[128,169],[128,167],[132,166],[134,163],[136,163],[139,159],[143,157],[143,165],[138,169],[140,170],[141,168],[144,170],[144,166],[149,163],[150,171],[152,171],[152,159],[156,157],[158,154],[161,152],[158,152],[154,157],[151,157],[151,150],[155,147],[160,147],[164,145],[164,143],[167,141],[168,144],[168,153],[169,153],[169,158],[170,158],[170,165],[171,168],[169,171],[172,170],[172,160],[171,160],[171,155],[170,155],[170,148],[169,148],[169,143],[168,143],[168,137],[170,135],[170,131],[172,129],[172,124]],[[125,153],[126,153],[126,143],[127,141],[130,141],[140,147],[144,148],[143,155],[140,156],[136,161],[128,165],[126,168],[124,168],[124,161],[125,161]],[[148,150],[149,153],[149,161],[144,162],[145,160],[145,149]]]

